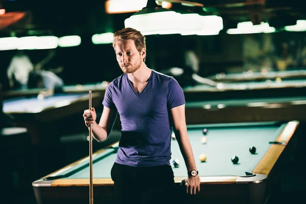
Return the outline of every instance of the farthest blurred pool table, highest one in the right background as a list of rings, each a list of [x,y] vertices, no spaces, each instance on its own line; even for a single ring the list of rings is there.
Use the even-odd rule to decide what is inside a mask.
[[[306,69],[296,69],[296,70],[282,70],[282,71],[271,71],[262,69],[261,71],[241,71],[237,73],[217,73],[211,75],[208,79],[214,80],[216,82],[233,82],[233,81],[262,81],[262,80],[272,80],[275,78],[281,79],[301,79],[306,78]]]

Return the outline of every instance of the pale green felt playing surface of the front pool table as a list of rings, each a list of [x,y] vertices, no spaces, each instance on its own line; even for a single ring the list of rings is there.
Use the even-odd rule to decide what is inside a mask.
[[[207,127],[207,144],[201,144],[202,129]],[[200,176],[244,175],[245,171],[252,172],[260,160],[264,157],[271,144],[283,131],[282,123],[232,123],[188,126],[188,135],[194,152],[196,166]],[[257,154],[250,154],[249,147],[255,146]],[[171,139],[171,166],[176,177],[187,176],[179,145]],[[207,155],[207,161],[199,160],[200,154]],[[233,164],[233,155],[239,157],[238,164]],[[113,148],[93,157],[93,177],[96,179],[111,178],[111,168],[116,159],[116,151]],[[172,161],[180,160],[179,167],[173,167]],[[89,160],[59,172],[64,179],[89,178]]]

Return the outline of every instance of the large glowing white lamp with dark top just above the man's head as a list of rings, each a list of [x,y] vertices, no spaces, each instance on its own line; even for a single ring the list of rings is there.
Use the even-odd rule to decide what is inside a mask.
[[[124,20],[125,28],[133,28],[142,35],[175,32],[181,28],[181,14],[162,8],[148,0],[147,6]]]

